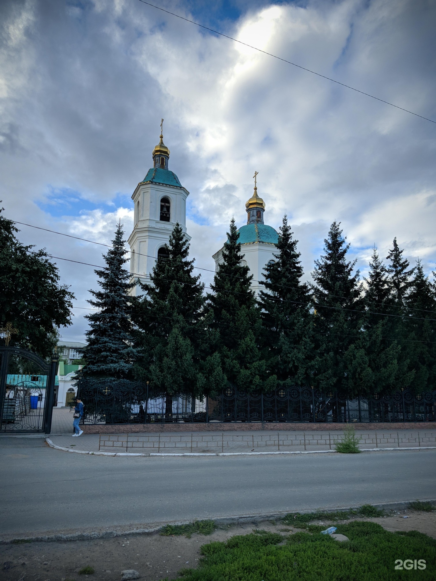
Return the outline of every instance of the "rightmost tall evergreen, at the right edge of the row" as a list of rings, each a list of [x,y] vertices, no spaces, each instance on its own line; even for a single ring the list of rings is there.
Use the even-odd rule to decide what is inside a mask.
[[[410,389],[416,393],[436,385],[436,297],[423,266],[417,260],[414,276],[405,296],[405,348],[413,372]]]

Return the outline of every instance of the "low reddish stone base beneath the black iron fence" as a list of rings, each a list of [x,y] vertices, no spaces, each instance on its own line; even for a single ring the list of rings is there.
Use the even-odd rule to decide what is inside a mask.
[[[436,430],[436,422],[380,422],[379,424],[313,424],[284,422],[209,422],[209,424],[94,424],[81,425],[87,434],[122,434],[122,433],[163,433],[163,432],[254,432],[258,430],[312,432],[312,431],[344,431],[347,425],[363,431],[391,430]]]

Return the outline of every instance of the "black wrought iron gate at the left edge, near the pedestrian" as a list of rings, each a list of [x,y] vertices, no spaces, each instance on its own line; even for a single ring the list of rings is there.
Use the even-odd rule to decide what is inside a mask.
[[[50,433],[57,358],[0,347],[0,432]]]

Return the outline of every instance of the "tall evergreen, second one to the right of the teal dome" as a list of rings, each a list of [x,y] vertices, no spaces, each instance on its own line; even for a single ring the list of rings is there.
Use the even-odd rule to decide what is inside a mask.
[[[340,224],[340,223],[339,223]],[[315,333],[317,335],[316,383],[322,389],[338,389],[348,394],[366,389],[368,359],[359,340],[362,328],[362,285],[356,261],[346,259],[349,244],[333,222],[324,239],[324,255],[315,261]]]

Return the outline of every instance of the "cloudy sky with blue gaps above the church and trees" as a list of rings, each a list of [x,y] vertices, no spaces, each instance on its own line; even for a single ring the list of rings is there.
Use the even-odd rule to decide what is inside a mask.
[[[434,0],[158,5],[436,120]],[[2,0],[0,27],[6,217],[103,243],[121,218],[127,238],[164,117],[198,267],[213,270],[232,216],[244,224],[257,170],[265,221],[288,214],[307,278],[333,220],[363,273],[394,236],[434,269],[436,124],[138,0]],[[102,246],[19,228],[24,243],[102,264]],[[83,340],[94,271],[56,263],[76,295],[62,336]]]

